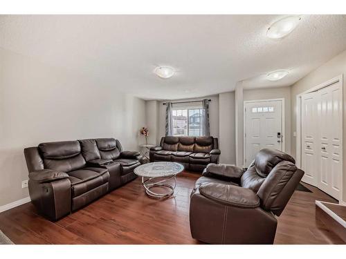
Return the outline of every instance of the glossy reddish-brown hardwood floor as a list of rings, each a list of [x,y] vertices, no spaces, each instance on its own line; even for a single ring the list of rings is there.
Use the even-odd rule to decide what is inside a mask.
[[[184,172],[174,196],[154,200],[140,178],[55,223],[32,204],[0,213],[0,229],[15,244],[199,244],[190,236],[189,196],[200,175]],[[275,244],[340,244],[343,240],[315,218],[315,200],[334,202],[322,191],[295,191],[278,218]]]

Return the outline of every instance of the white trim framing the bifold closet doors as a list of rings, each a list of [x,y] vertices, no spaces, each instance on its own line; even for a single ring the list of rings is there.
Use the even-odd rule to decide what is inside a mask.
[[[302,95],[307,93],[313,93],[317,90],[320,90],[322,88],[331,86],[332,84],[336,84],[340,82],[341,84],[341,93],[344,95],[344,86],[343,86],[343,74],[338,75],[337,77],[334,77],[332,79],[329,79],[328,81],[325,81],[322,84],[319,84],[318,86],[314,86],[308,90],[305,90],[304,92],[298,94],[296,96],[296,107],[297,107],[297,121],[296,121],[296,130],[297,130],[297,137],[295,140],[295,164],[298,168],[301,168],[302,164]],[[343,107],[343,96],[341,98],[341,106]],[[342,127],[341,127],[341,146],[343,146],[343,110],[341,113],[342,117]],[[343,163],[343,148],[341,148],[341,157],[340,160]],[[340,198],[339,203],[341,204],[343,202],[343,164],[341,165],[342,173],[341,173],[341,189],[340,189]],[[318,186],[316,186],[318,188]]]

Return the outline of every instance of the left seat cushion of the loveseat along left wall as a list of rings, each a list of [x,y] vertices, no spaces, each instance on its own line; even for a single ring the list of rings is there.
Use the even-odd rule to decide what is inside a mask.
[[[72,171],[69,174],[71,181],[71,195],[76,197],[109,181],[107,169],[86,167]]]

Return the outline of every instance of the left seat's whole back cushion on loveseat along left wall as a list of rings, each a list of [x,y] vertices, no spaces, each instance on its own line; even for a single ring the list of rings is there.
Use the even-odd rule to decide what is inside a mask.
[[[41,143],[39,152],[42,155],[45,169],[70,172],[80,169],[86,164],[78,141]]]

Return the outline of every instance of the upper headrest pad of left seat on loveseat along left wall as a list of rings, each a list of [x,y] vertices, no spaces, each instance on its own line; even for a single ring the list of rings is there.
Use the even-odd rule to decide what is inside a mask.
[[[39,144],[39,151],[45,159],[62,160],[80,154],[80,142],[62,141]]]

